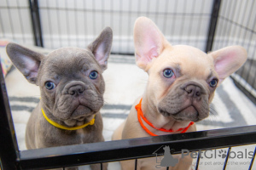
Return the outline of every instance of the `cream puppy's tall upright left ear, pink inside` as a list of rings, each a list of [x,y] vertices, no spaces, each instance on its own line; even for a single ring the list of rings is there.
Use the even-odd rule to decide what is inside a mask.
[[[148,64],[165,48],[166,38],[152,20],[139,17],[135,21],[133,39],[137,65],[148,71]]]

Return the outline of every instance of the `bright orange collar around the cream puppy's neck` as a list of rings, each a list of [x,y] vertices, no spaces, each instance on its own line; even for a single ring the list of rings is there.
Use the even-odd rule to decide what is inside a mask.
[[[150,134],[151,136],[158,136],[158,135],[152,133],[151,131],[148,130],[147,127],[145,127],[145,125],[143,125],[143,121],[142,121],[141,117],[143,117],[143,120],[144,120],[145,122],[147,122],[150,127],[153,127],[153,128],[155,128],[155,129],[157,129],[157,130],[160,130],[160,131],[163,131],[163,132],[168,132],[168,133],[175,133],[175,132],[178,132],[178,131],[182,131],[181,133],[185,133],[185,132],[187,132],[187,130],[189,129],[189,127],[194,124],[194,122],[190,122],[188,127],[179,128],[179,129],[177,129],[176,131],[173,131],[172,129],[166,130],[165,128],[157,128],[157,127],[154,127],[154,125],[153,125],[151,122],[149,122],[148,119],[147,119],[145,116],[143,116],[142,101],[143,101],[143,99],[141,99],[141,100],[140,100],[140,103],[135,106],[135,109],[137,110],[137,119],[138,119],[138,121],[140,122],[140,124],[141,124],[141,126],[143,127],[143,129],[144,129],[148,134]]]

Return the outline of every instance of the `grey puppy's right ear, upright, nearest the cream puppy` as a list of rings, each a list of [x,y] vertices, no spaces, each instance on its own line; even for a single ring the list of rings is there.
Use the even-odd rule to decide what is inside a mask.
[[[106,27],[94,42],[91,42],[87,48],[94,54],[96,60],[101,65],[102,70],[107,69],[108,57],[113,41],[113,32],[110,27]]]

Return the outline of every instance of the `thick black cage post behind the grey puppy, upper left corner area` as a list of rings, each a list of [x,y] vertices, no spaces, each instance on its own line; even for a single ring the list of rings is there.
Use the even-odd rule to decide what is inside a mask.
[[[28,0],[32,17],[32,28],[34,33],[34,42],[36,46],[44,47],[43,35],[41,29],[40,14],[38,8],[38,0]]]

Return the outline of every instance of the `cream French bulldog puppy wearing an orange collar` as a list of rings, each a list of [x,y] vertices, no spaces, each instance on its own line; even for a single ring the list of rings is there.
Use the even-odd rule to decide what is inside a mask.
[[[134,44],[137,65],[148,73],[148,83],[113,139],[196,131],[194,122],[209,115],[215,89],[247,59],[246,50],[239,46],[209,54],[186,45],[172,46],[145,17],[136,20]],[[187,170],[191,166],[191,157],[173,157],[178,163],[169,169]],[[134,169],[134,162],[121,161],[121,167]],[[146,158],[137,161],[137,169],[166,167],[157,168],[155,158]]]

